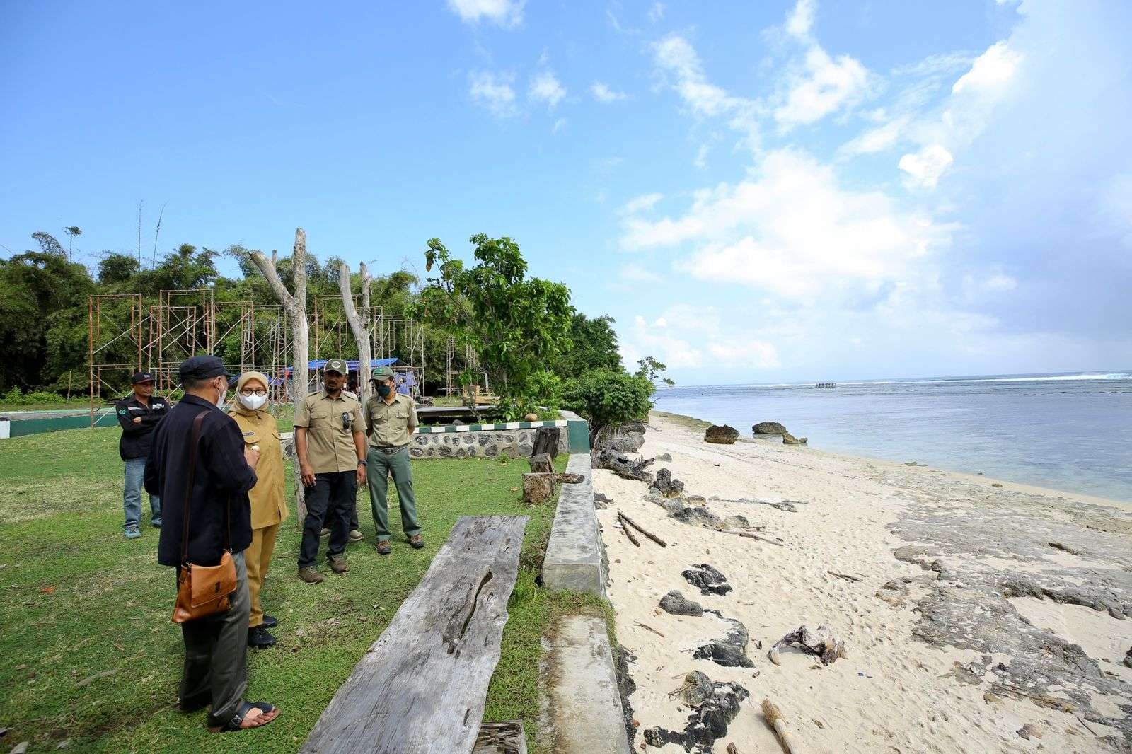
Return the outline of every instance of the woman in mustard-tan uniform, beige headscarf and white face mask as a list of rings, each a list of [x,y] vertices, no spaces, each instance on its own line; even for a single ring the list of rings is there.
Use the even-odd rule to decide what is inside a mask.
[[[259,589],[267,576],[275,549],[280,523],[290,512],[283,490],[283,455],[280,447],[278,425],[267,411],[267,377],[258,371],[246,371],[235,384],[237,403],[229,414],[235,419],[246,445],[259,446],[256,466],[256,486],[248,492],[251,500],[251,546],[245,552],[248,566],[248,592],[251,612],[248,616],[248,646],[266,649],[275,644],[267,629],[278,620],[264,615],[259,605]]]

